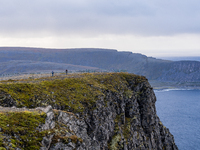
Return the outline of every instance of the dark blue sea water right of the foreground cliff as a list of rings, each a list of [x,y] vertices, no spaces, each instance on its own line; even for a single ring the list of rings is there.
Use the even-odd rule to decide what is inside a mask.
[[[179,150],[200,150],[200,90],[154,92],[157,114]]]

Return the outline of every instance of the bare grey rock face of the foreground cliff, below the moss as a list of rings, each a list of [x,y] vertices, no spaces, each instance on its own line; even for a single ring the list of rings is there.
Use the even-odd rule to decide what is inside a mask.
[[[120,95],[107,93],[106,102],[98,100],[97,109],[86,111],[84,119],[74,114],[58,112],[47,113],[44,129],[51,129],[53,120],[65,124],[71,131],[65,136],[77,136],[82,142],[64,144],[58,140],[54,144],[52,136],[43,139],[45,148],[50,149],[178,149],[169,130],[162,125],[155,109],[155,95],[148,83],[136,86],[131,98],[121,100]],[[51,121],[50,121],[51,120]],[[46,128],[48,126],[48,128]],[[51,146],[50,146],[51,145]],[[43,149],[44,149],[43,147]]]

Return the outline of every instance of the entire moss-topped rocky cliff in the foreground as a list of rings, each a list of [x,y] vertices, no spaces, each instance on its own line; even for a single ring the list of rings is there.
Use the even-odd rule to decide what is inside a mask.
[[[1,109],[0,148],[178,149],[156,115],[156,97],[145,77],[115,73],[52,79],[0,84],[1,106],[37,107]]]

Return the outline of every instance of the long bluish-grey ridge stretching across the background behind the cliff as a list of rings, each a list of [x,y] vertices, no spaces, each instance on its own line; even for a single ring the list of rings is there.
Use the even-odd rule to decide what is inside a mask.
[[[198,61],[168,61],[110,49],[1,47],[0,62],[0,74],[43,72],[64,70],[64,68],[103,69],[126,70],[129,73],[144,75],[149,80],[200,82],[200,62]]]

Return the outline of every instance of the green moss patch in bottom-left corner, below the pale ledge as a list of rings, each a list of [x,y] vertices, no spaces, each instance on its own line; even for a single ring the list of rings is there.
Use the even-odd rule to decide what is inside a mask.
[[[39,132],[36,128],[45,122],[45,118],[46,114],[39,112],[0,113],[0,146],[39,149],[45,132]],[[10,142],[4,142],[8,140],[5,135],[10,136]]]

